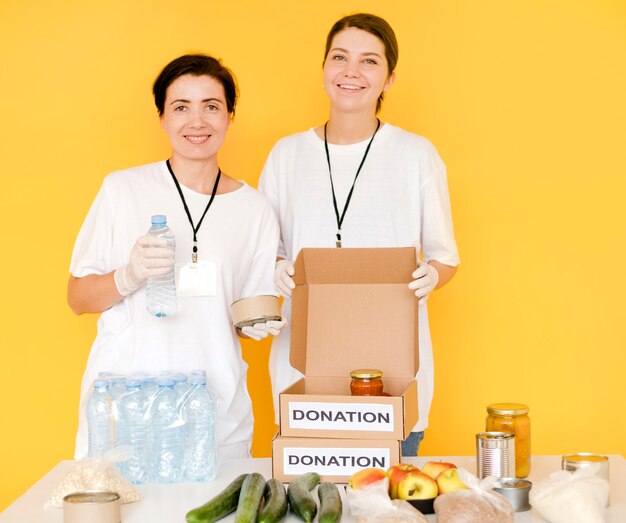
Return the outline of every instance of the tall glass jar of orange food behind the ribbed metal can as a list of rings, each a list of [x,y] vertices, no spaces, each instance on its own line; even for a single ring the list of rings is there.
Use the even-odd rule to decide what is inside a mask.
[[[530,418],[522,403],[492,403],[487,406],[487,430],[515,436],[515,476],[530,473]]]

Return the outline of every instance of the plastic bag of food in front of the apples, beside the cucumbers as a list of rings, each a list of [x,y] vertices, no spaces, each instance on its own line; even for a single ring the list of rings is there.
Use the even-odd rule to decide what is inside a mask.
[[[389,481],[370,483],[361,489],[346,488],[346,503],[357,523],[428,523],[408,502],[389,499]]]

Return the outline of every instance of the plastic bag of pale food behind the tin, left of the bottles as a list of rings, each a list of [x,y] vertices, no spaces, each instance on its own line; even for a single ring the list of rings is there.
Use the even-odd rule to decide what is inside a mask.
[[[75,461],[61,483],[52,492],[45,508],[63,508],[63,498],[68,494],[85,490],[116,492],[122,503],[139,501],[139,492],[118,472],[115,463],[130,458],[130,447],[111,449],[103,456]]]

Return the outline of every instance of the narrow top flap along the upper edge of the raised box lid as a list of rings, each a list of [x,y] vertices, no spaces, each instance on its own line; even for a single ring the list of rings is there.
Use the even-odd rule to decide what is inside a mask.
[[[417,267],[413,247],[302,249],[295,261],[296,285],[307,283],[406,283]]]

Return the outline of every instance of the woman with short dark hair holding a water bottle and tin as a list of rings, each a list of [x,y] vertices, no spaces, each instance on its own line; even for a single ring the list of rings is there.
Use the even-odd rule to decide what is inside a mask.
[[[216,396],[219,455],[248,457],[254,419],[237,335],[277,335],[285,322],[237,333],[230,306],[275,292],[278,224],[265,198],[218,165],[237,102],[232,73],[210,56],[184,55],[161,71],[153,94],[170,158],[107,176],[72,255],[70,307],[101,313],[83,376],[75,455],[87,452],[85,398],[99,372],[204,369]],[[146,236],[155,214],[167,216],[175,252]],[[173,265],[200,278],[179,286],[173,316],[151,316],[147,278]]]

